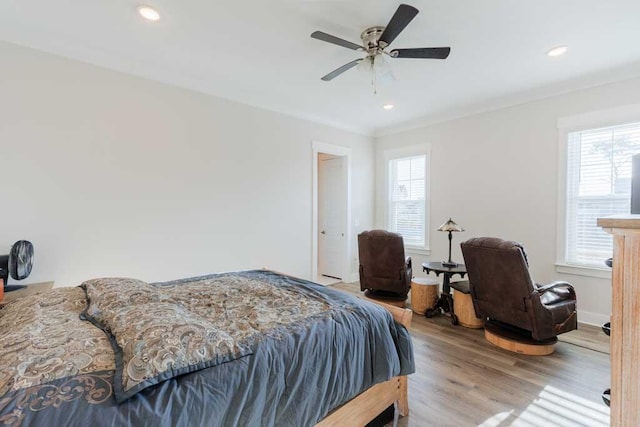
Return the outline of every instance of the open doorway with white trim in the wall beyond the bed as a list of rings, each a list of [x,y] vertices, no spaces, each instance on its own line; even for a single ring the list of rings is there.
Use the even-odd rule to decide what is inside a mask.
[[[313,143],[312,280],[323,285],[350,281],[350,154]]]

